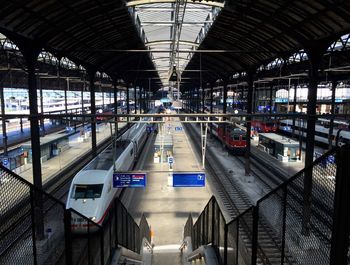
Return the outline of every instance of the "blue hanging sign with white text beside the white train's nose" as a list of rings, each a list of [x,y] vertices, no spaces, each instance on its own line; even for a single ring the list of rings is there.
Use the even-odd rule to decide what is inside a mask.
[[[146,173],[114,173],[113,188],[144,188]]]

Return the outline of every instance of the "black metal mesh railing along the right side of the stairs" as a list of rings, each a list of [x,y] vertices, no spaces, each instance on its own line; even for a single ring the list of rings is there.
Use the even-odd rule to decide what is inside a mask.
[[[325,153],[229,223],[212,197],[184,237],[211,244],[225,265],[349,264],[349,157],[350,146]]]

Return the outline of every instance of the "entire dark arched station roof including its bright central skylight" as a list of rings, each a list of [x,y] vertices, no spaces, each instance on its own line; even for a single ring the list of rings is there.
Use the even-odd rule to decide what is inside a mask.
[[[349,17],[341,0],[6,0],[0,33],[155,89],[176,69],[193,88],[331,43]]]

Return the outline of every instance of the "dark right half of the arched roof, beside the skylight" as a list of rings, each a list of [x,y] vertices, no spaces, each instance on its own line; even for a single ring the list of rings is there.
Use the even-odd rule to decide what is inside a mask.
[[[199,46],[222,52],[194,53],[186,70],[199,69],[201,60],[202,70],[227,78],[349,31],[349,1],[230,0]],[[198,74],[183,76],[198,84]],[[202,76],[203,83],[215,78]]]

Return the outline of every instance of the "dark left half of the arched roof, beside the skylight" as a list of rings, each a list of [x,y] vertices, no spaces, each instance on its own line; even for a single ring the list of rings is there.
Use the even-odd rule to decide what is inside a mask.
[[[156,71],[135,74],[154,65],[148,53],[127,52],[146,47],[124,1],[2,1],[0,32],[130,82],[158,77]]]

